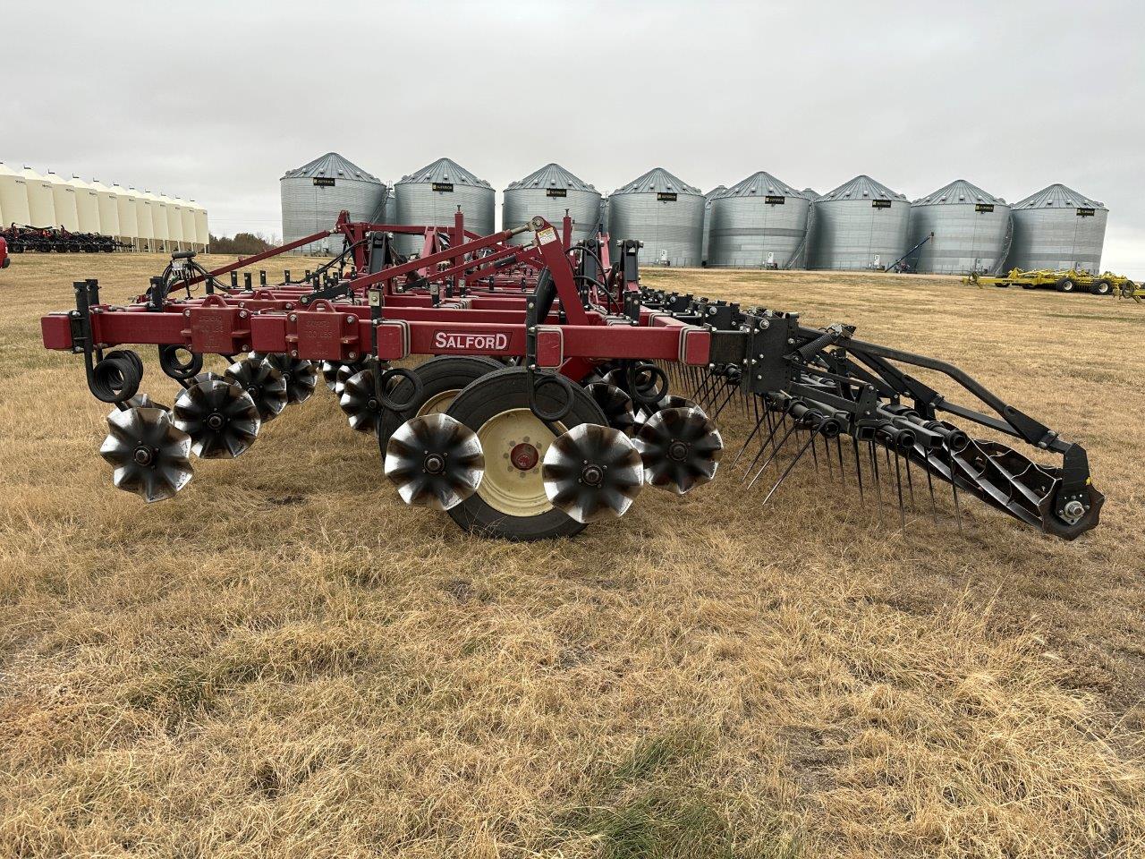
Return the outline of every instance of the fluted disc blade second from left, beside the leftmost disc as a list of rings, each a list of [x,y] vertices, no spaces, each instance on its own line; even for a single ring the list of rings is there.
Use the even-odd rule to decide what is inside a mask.
[[[237,383],[208,379],[175,400],[175,426],[191,436],[191,450],[204,459],[230,459],[246,452],[262,420],[254,400]]]

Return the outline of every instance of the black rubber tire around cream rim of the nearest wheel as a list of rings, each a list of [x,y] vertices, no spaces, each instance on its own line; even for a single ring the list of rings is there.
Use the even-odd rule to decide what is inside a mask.
[[[581,424],[608,425],[600,407],[584,388],[571,384],[566,389],[572,392],[572,408],[555,428],[571,430]],[[563,405],[561,391],[560,386],[545,385],[537,392],[537,404],[545,411],[558,411]],[[447,413],[476,433],[498,415],[528,408],[529,372],[523,368],[511,367],[483,376],[469,385],[457,395]],[[455,522],[474,534],[514,542],[570,537],[584,530],[586,527],[584,523],[548,505],[547,502],[544,512],[534,515],[512,515],[490,505],[482,497],[482,491],[489,479],[489,470],[500,466],[503,452],[485,451],[485,479],[482,480],[482,488],[449,511]]]

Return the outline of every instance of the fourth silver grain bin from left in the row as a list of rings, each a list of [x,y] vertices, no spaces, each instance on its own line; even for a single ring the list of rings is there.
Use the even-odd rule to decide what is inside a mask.
[[[698,266],[704,234],[704,195],[663,167],[648,171],[608,197],[608,230],[618,243],[643,242],[647,265]]]

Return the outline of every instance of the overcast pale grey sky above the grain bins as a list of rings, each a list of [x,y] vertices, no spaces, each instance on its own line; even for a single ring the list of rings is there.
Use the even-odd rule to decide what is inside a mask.
[[[48,8],[48,7],[45,7]],[[281,235],[278,180],[334,150],[498,190],[555,160],[611,190],[766,170],[910,198],[1063,182],[1145,277],[1145,6],[1124,2],[72,2],[5,22],[0,160]],[[42,27],[39,33],[35,27]],[[499,216],[498,206],[498,216]]]

